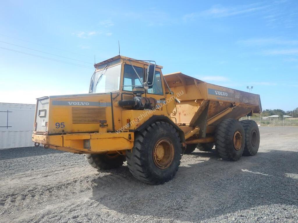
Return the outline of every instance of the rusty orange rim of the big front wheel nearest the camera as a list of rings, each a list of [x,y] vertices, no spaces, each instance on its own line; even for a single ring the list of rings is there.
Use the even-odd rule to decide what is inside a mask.
[[[174,158],[173,144],[166,138],[156,142],[153,148],[153,161],[159,169],[169,167]]]

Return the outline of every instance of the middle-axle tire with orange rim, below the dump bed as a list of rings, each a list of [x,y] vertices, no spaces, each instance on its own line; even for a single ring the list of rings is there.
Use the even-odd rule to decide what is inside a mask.
[[[215,150],[224,160],[238,160],[243,154],[245,133],[238,120],[225,119],[215,131]]]

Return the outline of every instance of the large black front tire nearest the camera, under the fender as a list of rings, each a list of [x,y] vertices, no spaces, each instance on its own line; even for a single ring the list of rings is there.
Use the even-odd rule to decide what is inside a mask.
[[[182,145],[176,129],[165,122],[154,122],[136,133],[134,147],[126,150],[131,174],[149,184],[171,180],[180,165]]]

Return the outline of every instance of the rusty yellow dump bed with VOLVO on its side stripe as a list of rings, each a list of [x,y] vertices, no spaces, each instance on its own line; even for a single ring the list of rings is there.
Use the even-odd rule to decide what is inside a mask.
[[[208,126],[217,125],[226,118],[239,119],[262,111],[260,95],[209,84],[181,72],[164,75],[164,78],[174,95],[183,92],[173,116],[182,125],[198,125],[202,119],[209,120]],[[218,114],[221,117],[212,120]]]

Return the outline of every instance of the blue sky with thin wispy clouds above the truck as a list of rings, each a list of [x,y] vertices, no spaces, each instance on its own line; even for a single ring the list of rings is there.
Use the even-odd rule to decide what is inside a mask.
[[[150,3],[150,4],[149,4]],[[96,62],[153,59],[213,84],[298,107],[297,1],[3,1],[0,102],[87,93]],[[66,62],[66,63],[65,63]]]

